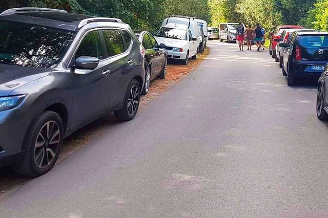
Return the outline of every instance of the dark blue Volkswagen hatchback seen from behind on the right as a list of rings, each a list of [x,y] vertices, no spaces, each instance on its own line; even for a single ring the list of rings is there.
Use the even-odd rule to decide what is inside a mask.
[[[282,74],[287,76],[288,85],[296,79],[318,79],[328,62],[328,32],[296,31],[285,43]]]

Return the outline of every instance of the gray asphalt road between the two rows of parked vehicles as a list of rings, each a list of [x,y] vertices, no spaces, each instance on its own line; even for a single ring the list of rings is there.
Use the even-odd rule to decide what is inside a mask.
[[[0,217],[328,217],[328,123],[267,51],[188,77],[0,201]]]

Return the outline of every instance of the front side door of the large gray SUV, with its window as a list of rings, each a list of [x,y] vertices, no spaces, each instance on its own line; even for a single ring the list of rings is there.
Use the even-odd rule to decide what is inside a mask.
[[[106,111],[109,103],[109,64],[106,57],[104,41],[101,40],[100,32],[92,30],[87,32],[81,39],[81,43],[75,52],[74,59],[80,56],[98,58],[98,67],[94,70],[74,70],[72,79],[73,100],[71,111],[72,127],[92,119]]]

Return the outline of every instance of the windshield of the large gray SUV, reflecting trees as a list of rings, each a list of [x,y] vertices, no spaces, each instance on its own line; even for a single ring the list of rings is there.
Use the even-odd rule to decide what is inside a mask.
[[[74,32],[0,20],[0,63],[49,68],[64,57]]]

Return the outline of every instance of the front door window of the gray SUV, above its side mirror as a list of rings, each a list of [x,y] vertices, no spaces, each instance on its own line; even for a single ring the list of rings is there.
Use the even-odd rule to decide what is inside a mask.
[[[96,57],[100,60],[104,58],[104,48],[97,30],[87,33],[83,38],[75,53],[75,59],[80,56]]]

